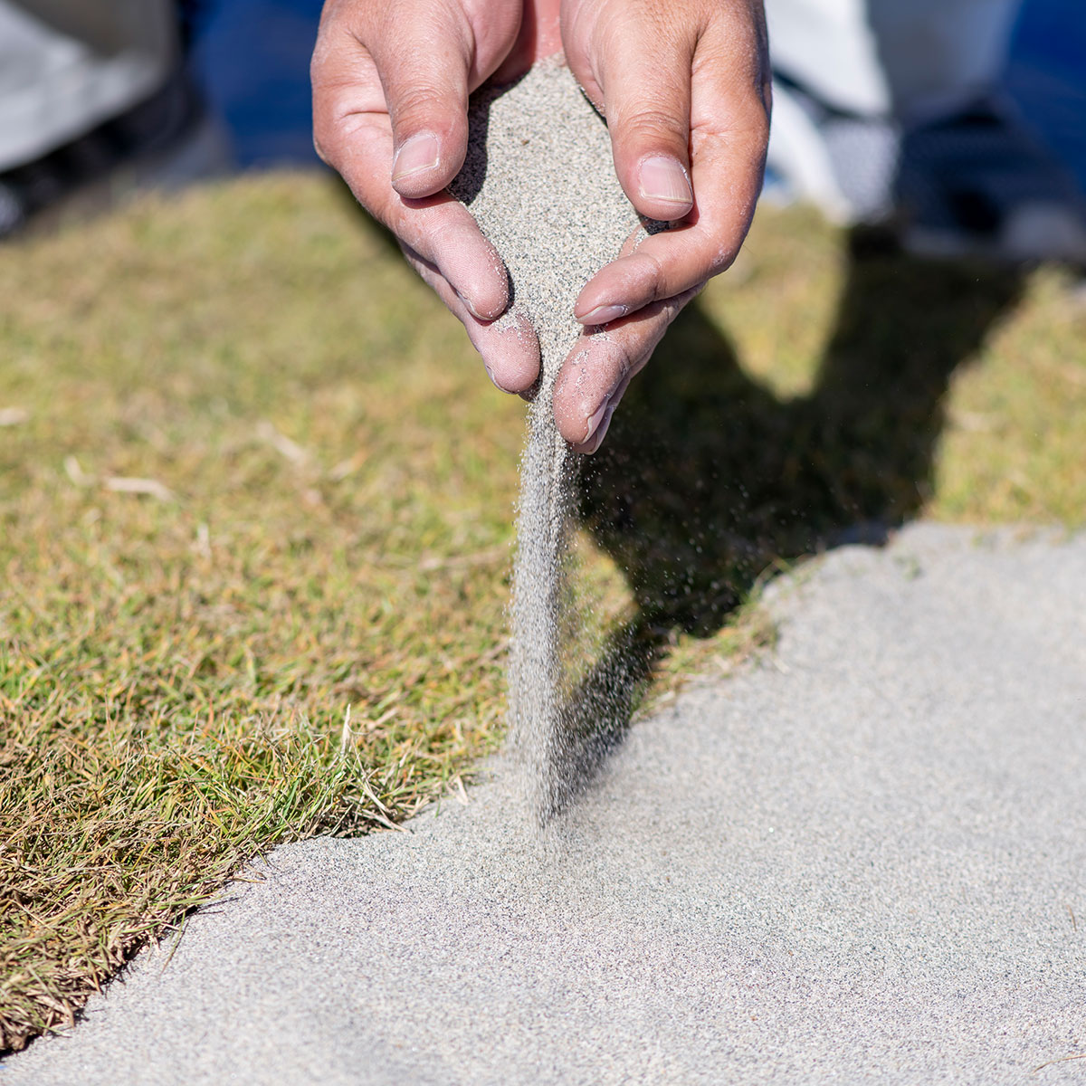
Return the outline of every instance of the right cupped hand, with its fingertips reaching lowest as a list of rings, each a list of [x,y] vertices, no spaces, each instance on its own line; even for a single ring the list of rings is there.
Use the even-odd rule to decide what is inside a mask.
[[[554,411],[563,437],[591,453],[668,325],[746,237],[769,138],[769,58],[760,0],[563,0],[561,38],[607,119],[626,194],[671,224],[631,238],[577,300],[585,334]]]

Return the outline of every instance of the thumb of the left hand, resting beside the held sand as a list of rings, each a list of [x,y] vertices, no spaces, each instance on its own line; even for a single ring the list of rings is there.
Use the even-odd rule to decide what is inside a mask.
[[[392,187],[419,199],[440,192],[464,165],[470,34],[447,9],[418,16],[370,47],[392,122]]]

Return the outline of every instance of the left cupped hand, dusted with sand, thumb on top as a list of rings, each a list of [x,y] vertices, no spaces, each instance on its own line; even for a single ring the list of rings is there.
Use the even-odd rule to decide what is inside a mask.
[[[464,165],[468,94],[560,49],[558,0],[540,2],[553,8],[545,23],[523,0],[328,0],[312,64],[317,153],[396,236],[508,392],[539,376],[535,334],[492,324],[509,300],[502,261],[445,186]]]

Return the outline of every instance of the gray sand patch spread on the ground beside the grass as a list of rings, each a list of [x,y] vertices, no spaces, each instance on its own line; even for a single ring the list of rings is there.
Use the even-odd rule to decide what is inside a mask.
[[[1086,538],[933,527],[773,586],[543,848],[495,779],[277,849],[51,1084],[1086,1083]]]

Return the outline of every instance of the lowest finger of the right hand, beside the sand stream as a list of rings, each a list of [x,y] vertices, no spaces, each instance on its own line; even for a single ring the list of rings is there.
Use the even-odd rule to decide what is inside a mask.
[[[581,337],[554,389],[558,431],[576,452],[594,453],[599,447],[630,381],[696,293],[697,289],[689,290]]]

